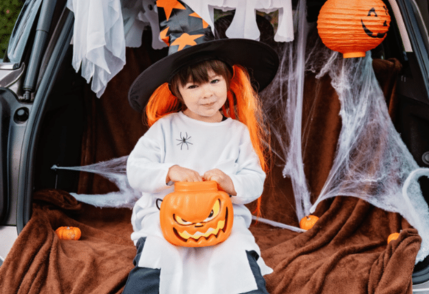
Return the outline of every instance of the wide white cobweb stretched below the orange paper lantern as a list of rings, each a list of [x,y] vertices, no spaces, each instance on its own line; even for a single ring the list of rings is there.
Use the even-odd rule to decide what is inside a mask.
[[[429,176],[429,169],[419,168],[391,121],[371,52],[359,59],[332,53],[330,59],[316,77],[331,77],[341,102],[342,129],[333,166],[309,212],[327,198],[353,196],[400,213],[423,239],[419,262],[429,253],[429,210],[418,178]]]

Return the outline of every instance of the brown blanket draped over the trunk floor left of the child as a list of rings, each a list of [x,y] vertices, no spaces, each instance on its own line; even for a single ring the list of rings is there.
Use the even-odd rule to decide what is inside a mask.
[[[122,292],[135,256],[129,219],[109,231],[108,222],[91,221],[78,207],[64,191],[35,193],[32,218],[0,267],[0,293]],[[63,226],[80,228],[80,240],[60,240],[55,230]]]

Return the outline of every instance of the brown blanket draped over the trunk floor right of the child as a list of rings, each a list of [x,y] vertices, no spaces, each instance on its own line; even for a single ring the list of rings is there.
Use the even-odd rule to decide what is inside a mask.
[[[388,235],[400,230],[399,238],[387,244]],[[252,232],[261,233],[259,229]],[[421,238],[396,213],[363,200],[338,197],[311,230],[289,235],[292,238],[278,243],[272,242],[275,238],[258,239],[265,262],[274,269],[266,277],[270,293],[412,291],[414,266],[408,259],[415,260]],[[391,292],[380,284],[392,284]]]

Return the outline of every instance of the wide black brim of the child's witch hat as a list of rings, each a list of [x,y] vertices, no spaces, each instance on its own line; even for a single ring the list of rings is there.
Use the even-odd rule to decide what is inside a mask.
[[[269,85],[278,69],[278,55],[268,45],[250,39],[219,39],[185,48],[153,63],[130,87],[131,107],[142,112],[153,92],[168,82],[179,67],[195,63],[199,58],[219,59],[229,65],[245,67],[257,92]]]

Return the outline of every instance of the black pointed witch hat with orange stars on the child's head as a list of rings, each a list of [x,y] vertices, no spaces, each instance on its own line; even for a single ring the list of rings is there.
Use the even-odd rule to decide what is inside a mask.
[[[179,0],[158,0],[159,35],[168,45],[168,56],[137,76],[129,90],[129,103],[142,112],[153,92],[182,68],[217,59],[228,65],[245,67],[252,85],[260,92],[276,75],[276,52],[259,41],[250,39],[214,39],[210,25]]]

